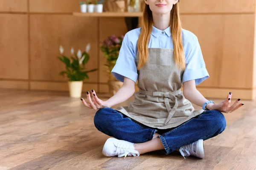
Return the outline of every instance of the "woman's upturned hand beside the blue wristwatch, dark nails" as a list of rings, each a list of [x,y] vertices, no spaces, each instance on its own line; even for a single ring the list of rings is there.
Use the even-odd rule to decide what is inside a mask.
[[[238,108],[240,108],[244,103],[239,102],[240,99],[237,99],[236,102],[232,106],[230,106],[231,103],[231,97],[232,93],[229,93],[227,95],[227,99],[224,100],[223,102],[220,102],[218,104],[216,103],[208,103],[207,108],[209,110],[218,110],[220,112],[224,113],[232,113],[233,111],[236,111]]]

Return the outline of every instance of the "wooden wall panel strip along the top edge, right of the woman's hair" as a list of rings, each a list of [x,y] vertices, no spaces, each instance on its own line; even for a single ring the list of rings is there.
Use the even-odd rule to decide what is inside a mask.
[[[180,0],[181,13],[255,12],[255,0]]]

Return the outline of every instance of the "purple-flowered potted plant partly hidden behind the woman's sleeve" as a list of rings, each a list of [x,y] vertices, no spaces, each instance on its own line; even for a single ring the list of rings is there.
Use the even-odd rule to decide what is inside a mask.
[[[102,42],[101,51],[104,54],[104,57],[107,59],[105,64],[107,74],[108,74],[108,87],[110,95],[114,95],[119,88],[122,87],[122,82],[119,82],[112,74],[111,71],[116,64],[116,60],[119,55],[119,51],[122,45],[124,36],[116,37],[112,35]]]

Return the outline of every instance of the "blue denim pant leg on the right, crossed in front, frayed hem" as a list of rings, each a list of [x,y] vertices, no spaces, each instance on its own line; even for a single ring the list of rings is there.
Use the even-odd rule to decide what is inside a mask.
[[[199,139],[207,140],[217,136],[226,128],[226,119],[220,111],[204,111],[198,116],[184,122],[172,130],[157,136],[163,142],[166,154],[183,145]]]

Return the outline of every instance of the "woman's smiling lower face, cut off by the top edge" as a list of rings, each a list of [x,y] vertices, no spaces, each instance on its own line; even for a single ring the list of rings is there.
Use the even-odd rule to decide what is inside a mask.
[[[145,0],[149,5],[150,10],[155,14],[166,14],[172,10],[178,0]]]

